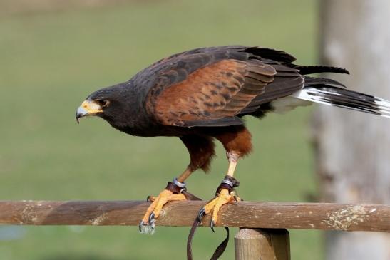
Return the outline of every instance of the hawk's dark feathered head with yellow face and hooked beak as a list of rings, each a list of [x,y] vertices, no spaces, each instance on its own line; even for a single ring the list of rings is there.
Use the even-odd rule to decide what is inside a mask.
[[[128,98],[125,83],[102,88],[88,95],[88,98],[77,108],[77,123],[79,123],[80,118],[90,115],[103,118],[111,125],[123,122],[123,117],[129,112],[129,103],[131,103],[131,98]]]

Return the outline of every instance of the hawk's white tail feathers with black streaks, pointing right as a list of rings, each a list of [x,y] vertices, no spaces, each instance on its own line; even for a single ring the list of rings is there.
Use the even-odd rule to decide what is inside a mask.
[[[305,86],[292,96],[390,118],[390,101],[331,85]]]

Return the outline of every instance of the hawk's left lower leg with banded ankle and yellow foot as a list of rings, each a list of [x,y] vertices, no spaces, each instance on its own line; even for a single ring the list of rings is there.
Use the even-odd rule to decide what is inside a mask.
[[[193,170],[191,170],[190,167],[187,167],[187,169],[178,178],[175,178],[173,182],[168,182],[167,187],[160,192],[157,197],[148,197],[148,201],[152,202],[152,204],[150,204],[140,222],[139,229],[141,233],[154,232],[155,219],[160,216],[165,204],[178,200],[187,200],[185,195],[181,192],[185,190],[184,180],[186,180],[192,172]]]

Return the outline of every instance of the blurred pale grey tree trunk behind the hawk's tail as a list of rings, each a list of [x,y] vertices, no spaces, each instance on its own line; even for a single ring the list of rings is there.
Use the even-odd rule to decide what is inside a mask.
[[[322,63],[349,89],[390,100],[390,1],[322,0]],[[321,106],[314,114],[323,202],[390,204],[390,120]],[[327,232],[326,259],[390,259],[390,234]]]

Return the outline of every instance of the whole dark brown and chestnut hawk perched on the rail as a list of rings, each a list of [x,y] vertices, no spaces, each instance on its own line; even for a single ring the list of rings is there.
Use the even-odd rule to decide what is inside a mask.
[[[164,204],[188,199],[185,180],[197,169],[207,172],[214,140],[222,142],[227,174],[215,198],[200,211],[217,222],[222,205],[239,200],[233,177],[237,161],[252,150],[251,134],[242,120],[251,115],[286,111],[322,103],[390,117],[390,103],[347,90],[312,73],[348,73],[344,68],[299,66],[284,51],[248,46],[197,48],[157,61],[130,80],[97,90],[83,101],[76,119],[96,115],[113,128],[141,137],[179,137],[190,153],[183,173],[168,182],[140,221],[141,232],[153,232]]]

